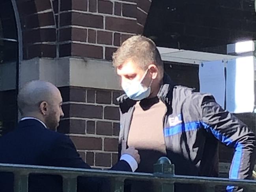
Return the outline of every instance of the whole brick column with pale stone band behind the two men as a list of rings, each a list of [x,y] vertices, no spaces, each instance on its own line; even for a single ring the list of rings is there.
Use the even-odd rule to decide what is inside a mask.
[[[20,87],[40,79],[60,88],[59,131],[95,168],[117,161],[121,89],[112,53],[142,34],[151,0],[17,0],[23,60]],[[29,75],[28,75],[29,74]]]

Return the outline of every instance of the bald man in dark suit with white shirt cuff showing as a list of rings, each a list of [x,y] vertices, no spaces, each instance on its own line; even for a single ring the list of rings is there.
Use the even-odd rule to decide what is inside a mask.
[[[44,81],[28,82],[18,95],[22,118],[16,129],[0,137],[0,163],[90,168],[64,134],[56,132],[62,111],[62,96],[58,88]],[[120,161],[111,170],[135,171],[140,162],[134,147],[123,148]],[[0,173],[0,191],[13,191],[13,175]],[[103,179],[80,178],[78,191],[102,191]],[[31,175],[29,192],[60,192],[62,178]]]

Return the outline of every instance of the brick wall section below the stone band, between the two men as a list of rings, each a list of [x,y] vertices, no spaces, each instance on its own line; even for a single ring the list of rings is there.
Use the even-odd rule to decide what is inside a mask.
[[[59,132],[69,134],[80,156],[97,168],[117,161],[120,91],[80,87],[60,88],[65,113]]]

